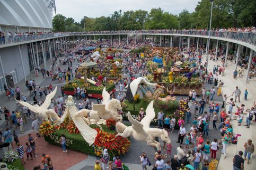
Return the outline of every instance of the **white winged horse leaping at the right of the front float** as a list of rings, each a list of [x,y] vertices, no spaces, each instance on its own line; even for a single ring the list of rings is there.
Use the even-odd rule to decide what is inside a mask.
[[[160,143],[154,140],[155,137],[160,137],[167,144],[171,143],[170,137],[166,130],[158,128],[150,128],[149,125],[155,117],[155,109],[153,108],[154,101],[149,103],[146,109],[146,116],[142,121],[138,121],[131,117],[128,112],[128,119],[133,126],[125,126],[121,122],[117,122],[116,128],[118,134],[116,136],[129,137],[133,136],[136,140],[146,141],[147,145],[156,147],[157,150],[161,150]]]

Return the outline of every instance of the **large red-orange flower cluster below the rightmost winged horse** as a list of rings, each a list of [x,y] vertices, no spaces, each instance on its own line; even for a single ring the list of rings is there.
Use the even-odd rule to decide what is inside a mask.
[[[125,155],[130,146],[130,140],[121,136],[116,137],[114,134],[107,133],[103,130],[95,128],[98,132],[94,145],[107,148],[110,151],[116,151],[119,155]]]

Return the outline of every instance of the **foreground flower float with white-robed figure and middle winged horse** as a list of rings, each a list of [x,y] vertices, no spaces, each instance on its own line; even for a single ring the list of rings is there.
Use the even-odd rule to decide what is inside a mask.
[[[114,112],[113,109],[121,107],[121,103],[119,101],[116,103],[116,99],[110,100],[110,95],[105,89],[103,89],[102,96],[104,102],[100,105],[95,104],[93,109],[103,110],[101,112],[96,111],[96,114],[99,114],[100,117],[108,117],[108,119],[105,119],[107,125],[101,125],[101,128],[99,128],[98,125],[87,124],[87,119],[90,119],[90,117],[96,119],[93,113],[90,113],[95,112],[95,110],[82,109],[78,111],[73,97],[68,96],[65,103],[66,109],[60,118],[61,123],[56,126],[45,121],[40,126],[40,133],[50,144],[58,146],[60,146],[61,135],[65,135],[68,149],[77,150],[85,154],[102,156],[103,149],[107,148],[111,157],[117,154],[125,155],[130,146],[130,140],[125,137],[115,136],[116,131],[110,130],[120,121],[120,119],[111,114],[111,108]],[[96,120],[94,122],[95,124],[97,123]]]

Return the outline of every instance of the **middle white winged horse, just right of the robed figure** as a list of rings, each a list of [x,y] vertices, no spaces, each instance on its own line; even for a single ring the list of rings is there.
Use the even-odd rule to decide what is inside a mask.
[[[117,120],[117,121],[122,121],[122,116],[118,115],[117,110],[121,110],[121,103],[117,99],[110,99],[109,93],[106,91],[104,88],[102,91],[102,98],[103,102],[102,104],[99,105],[93,105],[92,110],[87,110],[87,109],[82,109],[77,112],[76,117],[86,117],[89,120],[89,125],[91,125],[91,120],[94,119],[94,124],[99,126],[100,129],[102,127],[98,124],[98,121],[100,119],[108,120],[110,118]]]

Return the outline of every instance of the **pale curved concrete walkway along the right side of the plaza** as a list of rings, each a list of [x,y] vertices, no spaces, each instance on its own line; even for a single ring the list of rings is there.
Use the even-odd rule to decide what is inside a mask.
[[[205,62],[206,56],[203,56],[203,62]],[[218,61],[213,62],[213,60],[209,60],[208,63],[208,71],[213,71],[214,65],[219,64],[221,65],[221,62]],[[232,95],[233,91],[235,90],[235,87],[238,86],[239,89],[241,90],[241,102],[236,102],[235,105],[241,106],[243,103],[245,105],[245,109],[251,108],[253,106],[253,101],[256,100],[256,79],[249,79],[250,83],[245,83],[245,75],[243,75],[242,78],[237,78],[237,80],[233,79],[233,72],[235,68],[235,63],[234,61],[228,61],[227,67],[225,68],[225,74],[224,77],[219,77],[219,80],[222,80],[224,82],[224,86],[222,87],[222,95],[224,96],[227,94],[227,96]],[[243,73],[245,74],[245,73]],[[248,100],[245,101],[243,99],[243,93],[245,89],[248,89],[249,95],[248,95]],[[234,98],[234,96],[233,96]],[[228,106],[226,107],[228,110]],[[233,112],[236,111],[237,109],[234,107]],[[227,157],[224,159],[223,155],[220,158],[219,165],[218,165],[218,170],[223,170],[223,169],[233,169],[233,157],[238,154],[240,150],[244,152],[244,143],[248,139],[252,139],[252,142],[254,145],[256,144],[256,123],[251,121],[251,126],[249,129],[245,128],[245,119],[246,115],[244,116],[242,126],[237,126],[237,121],[233,120],[231,121],[231,124],[234,129],[234,134],[241,134],[242,136],[238,138],[237,145],[229,144],[227,147]],[[254,119],[254,118],[253,118]],[[254,167],[254,168],[253,168]],[[255,169],[256,167],[256,160],[255,156],[252,157],[251,163],[248,165],[244,164],[244,169],[250,170],[250,169]]]

